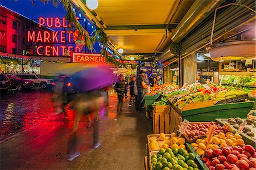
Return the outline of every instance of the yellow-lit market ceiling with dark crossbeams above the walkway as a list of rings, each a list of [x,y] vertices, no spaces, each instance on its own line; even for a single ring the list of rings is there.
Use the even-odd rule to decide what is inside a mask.
[[[109,43],[124,50],[125,59],[154,59],[171,43],[176,28],[195,0],[98,0],[90,10],[84,0],[71,0],[104,29]],[[102,24],[103,23],[103,24]]]

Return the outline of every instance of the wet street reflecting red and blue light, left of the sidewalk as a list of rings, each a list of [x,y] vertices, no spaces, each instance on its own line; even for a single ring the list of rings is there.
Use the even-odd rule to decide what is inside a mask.
[[[1,94],[0,141],[55,117],[52,95],[48,91]]]

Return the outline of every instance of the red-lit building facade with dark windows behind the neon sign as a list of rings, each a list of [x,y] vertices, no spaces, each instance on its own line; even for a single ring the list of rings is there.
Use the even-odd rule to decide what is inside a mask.
[[[28,31],[52,32],[53,30],[39,27],[34,20],[0,5],[0,52],[19,55],[34,54],[37,46],[48,45],[28,42]]]

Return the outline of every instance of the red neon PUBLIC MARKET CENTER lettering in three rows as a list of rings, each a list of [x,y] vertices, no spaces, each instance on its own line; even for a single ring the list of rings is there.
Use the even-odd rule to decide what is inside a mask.
[[[62,22],[61,22],[62,20]],[[39,27],[64,27],[67,28],[65,18],[39,18]],[[42,43],[65,43],[73,42],[73,31],[28,31],[27,32],[27,41],[28,42],[42,42]],[[55,46],[55,45],[39,45],[36,47],[36,53],[39,56],[64,56],[65,51],[68,51],[68,56],[72,56],[73,52],[80,52],[81,49],[79,46]]]

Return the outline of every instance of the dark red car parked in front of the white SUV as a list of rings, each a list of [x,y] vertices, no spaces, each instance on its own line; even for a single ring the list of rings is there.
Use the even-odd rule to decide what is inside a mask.
[[[34,86],[34,82],[31,80],[24,80],[12,74],[3,74],[3,75],[6,75],[10,79],[11,88],[15,88],[16,91],[21,91],[23,89],[30,89],[32,86]]]

